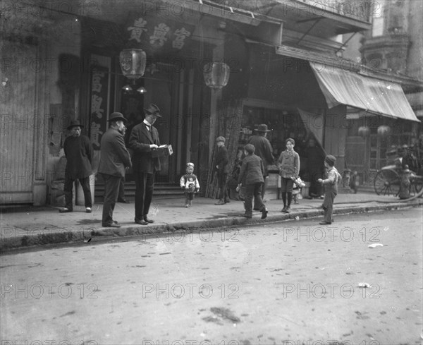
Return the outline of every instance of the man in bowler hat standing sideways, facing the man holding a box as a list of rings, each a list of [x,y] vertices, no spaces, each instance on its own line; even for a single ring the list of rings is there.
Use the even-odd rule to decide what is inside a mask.
[[[119,225],[113,220],[113,211],[118,200],[121,179],[125,176],[125,169],[132,167],[132,163],[123,140],[126,119],[121,113],[115,112],[108,121],[109,130],[104,133],[100,143],[99,174],[104,179],[102,226],[117,228]]]

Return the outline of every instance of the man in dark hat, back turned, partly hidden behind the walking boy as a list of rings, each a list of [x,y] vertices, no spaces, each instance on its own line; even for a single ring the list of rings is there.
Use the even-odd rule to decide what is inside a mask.
[[[263,161],[264,167],[264,183],[262,185],[262,199],[264,200],[264,193],[266,192],[267,178],[269,177],[268,165],[274,164],[274,156],[272,155],[273,148],[269,139],[266,138],[268,132],[266,124],[260,124],[257,129],[257,134],[252,135],[248,143],[255,147],[255,155],[259,156]],[[256,205],[254,200],[254,210],[259,210],[259,205]]]

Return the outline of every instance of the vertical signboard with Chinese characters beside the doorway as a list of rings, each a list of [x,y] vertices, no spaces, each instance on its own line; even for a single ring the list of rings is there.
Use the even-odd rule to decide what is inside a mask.
[[[100,150],[102,135],[107,130],[109,68],[93,66],[91,71],[91,126],[90,137],[94,150]]]

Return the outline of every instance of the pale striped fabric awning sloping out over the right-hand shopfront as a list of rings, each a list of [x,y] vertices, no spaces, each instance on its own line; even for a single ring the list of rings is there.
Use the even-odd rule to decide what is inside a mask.
[[[339,104],[395,119],[417,121],[399,84],[334,66],[310,63],[329,108]]]

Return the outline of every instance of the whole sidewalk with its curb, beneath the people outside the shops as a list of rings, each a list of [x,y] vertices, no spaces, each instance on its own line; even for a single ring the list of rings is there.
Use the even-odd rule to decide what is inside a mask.
[[[114,219],[121,228],[103,228],[102,204],[95,204],[92,213],[85,213],[85,207],[75,206],[73,212],[59,213],[60,207],[22,207],[16,212],[0,214],[0,249],[41,246],[51,243],[81,242],[89,243],[101,236],[163,236],[168,231],[200,231],[215,229],[224,231],[228,226],[260,224],[314,218],[316,223],[322,220],[321,199],[302,199],[299,205],[291,205],[290,214],[282,213],[282,200],[276,200],[276,193],[265,195],[269,214],[262,220],[261,212],[255,212],[252,219],[241,217],[244,213],[243,202],[231,200],[226,205],[214,205],[217,200],[195,198],[192,207],[185,208],[184,198],[153,198],[148,214],[154,224],[146,226],[135,224],[134,203],[117,203]],[[400,202],[393,196],[376,193],[357,193],[337,195],[334,214],[397,210],[405,207],[421,207],[423,199],[417,198]]]

